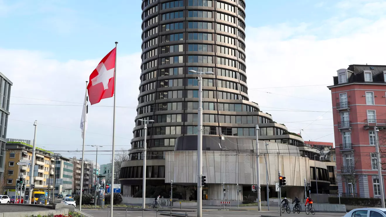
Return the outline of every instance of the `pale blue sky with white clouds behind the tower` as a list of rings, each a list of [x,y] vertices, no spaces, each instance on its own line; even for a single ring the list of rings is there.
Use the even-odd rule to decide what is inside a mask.
[[[13,82],[7,138],[81,157],[85,81],[117,48],[116,150],[133,138],[141,73],[141,1],[0,0],[0,72]],[[384,0],[246,0],[250,101],[304,140],[334,142],[337,70],[384,65]],[[86,145],[109,163],[113,100],[89,106]],[[86,146],[85,158],[95,159]]]

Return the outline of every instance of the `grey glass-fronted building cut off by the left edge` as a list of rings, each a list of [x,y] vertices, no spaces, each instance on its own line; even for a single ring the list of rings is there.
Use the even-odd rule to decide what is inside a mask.
[[[5,143],[7,143],[7,126],[9,113],[9,98],[12,82],[0,72],[0,177],[4,177]],[[4,182],[4,180],[2,180]]]

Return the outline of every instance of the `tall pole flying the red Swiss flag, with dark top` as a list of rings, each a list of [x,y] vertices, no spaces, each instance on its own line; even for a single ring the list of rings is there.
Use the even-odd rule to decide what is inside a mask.
[[[113,108],[113,148],[112,148],[112,158],[111,158],[111,161],[112,161],[112,168],[111,168],[111,172],[112,172],[112,175],[113,175],[113,178],[111,179],[111,186],[110,186],[110,192],[111,192],[111,195],[110,195],[110,202],[111,202],[111,217],[114,217],[113,215],[113,205],[114,205],[114,167],[115,167],[115,96],[117,95],[117,93],[115,92],[115,84],[117,83],[117,77],[116,77],[116,71],[117,71],[117,44],[118,42],[115,42],[115,65],[114,65],[114,108]]]

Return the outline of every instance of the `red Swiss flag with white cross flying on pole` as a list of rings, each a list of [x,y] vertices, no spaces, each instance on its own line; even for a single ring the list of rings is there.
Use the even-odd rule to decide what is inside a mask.
[[[88,99],[90,104],[97,104],[102,99],[113,97],[114,68],[116,49],[112,49],[98,64],[90,75],[88,83]]]

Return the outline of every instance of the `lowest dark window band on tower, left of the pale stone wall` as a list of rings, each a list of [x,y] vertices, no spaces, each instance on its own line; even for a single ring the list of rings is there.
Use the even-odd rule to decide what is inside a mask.
[[[132,160],[132,159],[130,159]],[[165,178],[165,166],[147,166],[146,178]],[[143,167],[123,167],[120,170],[119,178],[142,178]]]

